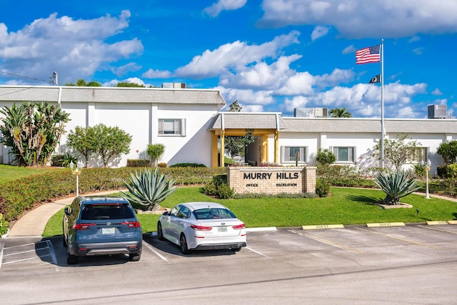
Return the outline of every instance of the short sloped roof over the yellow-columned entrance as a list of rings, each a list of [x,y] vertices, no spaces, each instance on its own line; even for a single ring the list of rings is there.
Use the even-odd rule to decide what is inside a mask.
[[[221,111],[214,118],[209,129],[283,129],[285,127],[280,113]]]

